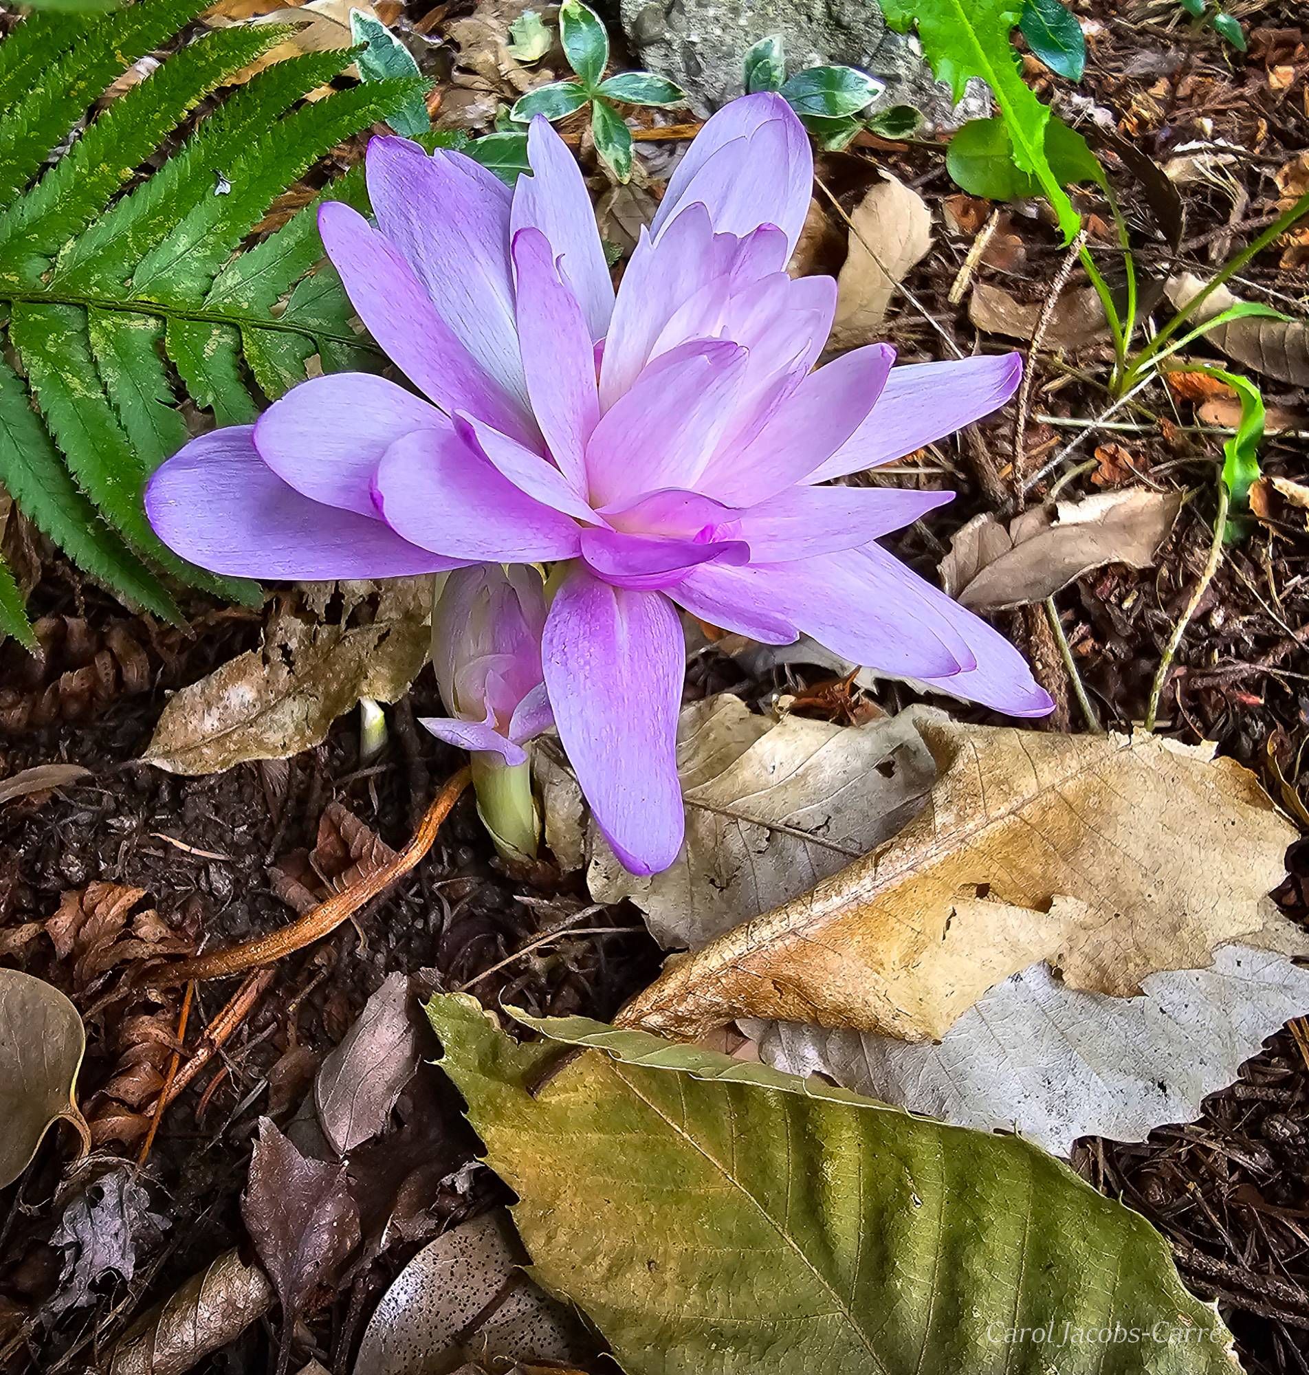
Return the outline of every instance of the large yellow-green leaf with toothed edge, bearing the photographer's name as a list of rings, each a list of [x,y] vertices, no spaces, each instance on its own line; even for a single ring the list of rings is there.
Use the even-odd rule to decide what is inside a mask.
[[[582,1018],[531,1022],[601,1048],[547,1078],[473,1000],[428,1015],[532,1277],[627,1375],[1239,1371],[1163,1238],[1026,1141]]]

